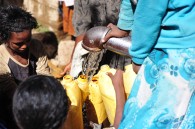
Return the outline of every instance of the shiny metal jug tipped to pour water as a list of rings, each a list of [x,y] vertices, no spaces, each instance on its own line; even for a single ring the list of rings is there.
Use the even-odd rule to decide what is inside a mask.
[[[84,35],[82,47],[88,51],[100,51],[108,49],[120,55],[129,56],[128,49],[131,46],[130,36],[123,38],[110,38],[106,43],[101,43],[101,39],[109,33],[110,28],[97,26],[89,29]]]

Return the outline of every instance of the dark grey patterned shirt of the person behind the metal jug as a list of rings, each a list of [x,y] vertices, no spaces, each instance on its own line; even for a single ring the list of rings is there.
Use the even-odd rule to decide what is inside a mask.
[[[76,0],[73,15],[75,36],[94,26],[116,25],[119,10],[120,0]]]

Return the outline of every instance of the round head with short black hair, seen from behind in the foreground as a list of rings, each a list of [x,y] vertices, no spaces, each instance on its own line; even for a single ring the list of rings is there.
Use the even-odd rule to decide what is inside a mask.
[[[68,97],[55,78],[35,75],[22,82],[13,97],[20,129],[59,129],[68,112]]]

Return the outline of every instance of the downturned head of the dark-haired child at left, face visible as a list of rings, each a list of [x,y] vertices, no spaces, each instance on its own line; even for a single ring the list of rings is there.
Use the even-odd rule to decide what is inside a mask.
[[[24,9],[17,6],[0,8],[1,43],[4,42],[8,46],[17,45],[18,47],[25,48],[31,39],[31,30],[37,27],[38,23],[36,19]],[[20,52],[24,48],[16,48],[16,52]],[[11,49],[15,50],[15,48]]]

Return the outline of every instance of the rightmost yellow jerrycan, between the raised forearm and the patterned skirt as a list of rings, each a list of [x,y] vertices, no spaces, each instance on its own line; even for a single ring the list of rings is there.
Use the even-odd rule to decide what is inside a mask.
[[[131,93],[131,89],[136,78],[136,74],[133,71],[132,64],[125,66],[125,72],[123,73],[123,82],[125,88],[126,98]]]

